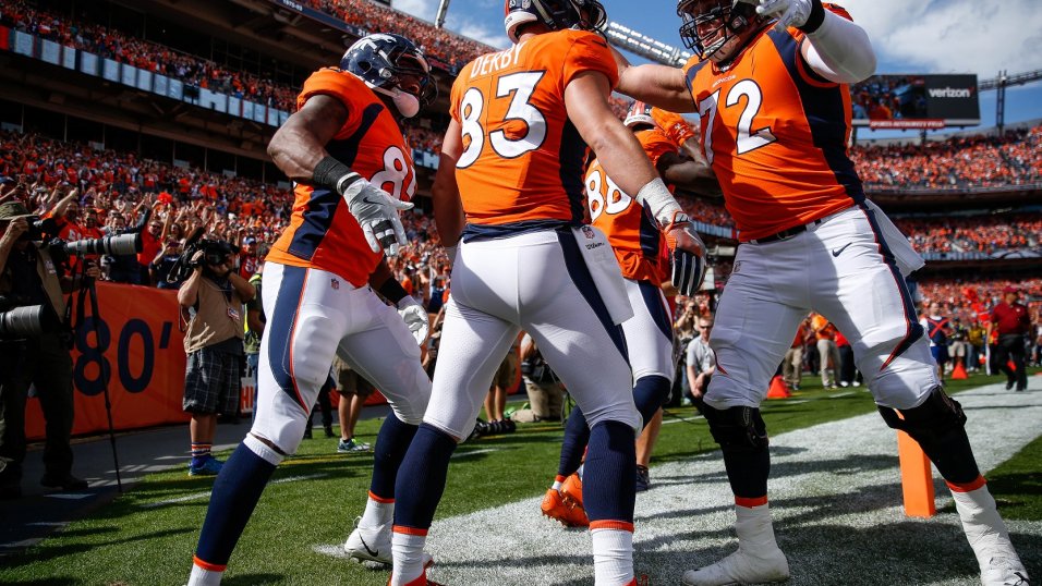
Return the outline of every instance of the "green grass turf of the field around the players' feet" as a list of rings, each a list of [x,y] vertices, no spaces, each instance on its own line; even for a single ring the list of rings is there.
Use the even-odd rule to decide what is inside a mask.
[[[863,388],[823,391],[812,378],[804,381],[807,387],[792,399],[764,404],[772,435],[875,408]],[[976,376],[949,382],[948,389],[958,393],[998,381],[999,377]],[[655,464],[716,449],[704,419],[691,407],[669,410],[665,422],[652,462],[653,483]],[[361,439],[375,441],[378,425],[378,420],[361,422]],[[519,425],[513,435],[461,445],[438,518],[541,495],[556,471],[560,437],[559,425],[530,424]],[[339,544],[347,537],[364,505],[371,464],[372,454],[337,454],[336,439],[305,440],[300,454],[276,471],[276,483],[265,491],[223,583],[385,584],[386,572],[314,550],[316,545]],[[989,474],[989,486],[1007,518],[1042,521],[1040,464],[1042,438]],[[27,552],[0,558],[0,584],[183,584],[211,484],[211,478],[187,477],[181,466],[147,476],[111,504]],[[499,528],[481,530],[494,534]]]

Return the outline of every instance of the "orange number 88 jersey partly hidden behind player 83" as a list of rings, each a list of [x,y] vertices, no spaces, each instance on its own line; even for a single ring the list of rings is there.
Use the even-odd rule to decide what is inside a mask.
[[[653,167],[657,168],[663,155],[677,152],[677,146],[657,127],[639,131],[635,136]],[[590,218],[593,225],[608,236],[622,277],[656,285],[663,282],[664,271],[659,267],[663,236],[651,211],[620,190],[596,159],[586,169],[585,184]]]

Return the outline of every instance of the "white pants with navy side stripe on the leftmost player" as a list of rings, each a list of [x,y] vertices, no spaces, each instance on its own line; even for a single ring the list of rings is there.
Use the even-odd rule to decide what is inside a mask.
[[[265,263],[262,302],[268,321],[253,435],[294,453],[335,353],[387,398],[399,419],[420,425],[431,396],[420,346],[371,288],[324,270]]]

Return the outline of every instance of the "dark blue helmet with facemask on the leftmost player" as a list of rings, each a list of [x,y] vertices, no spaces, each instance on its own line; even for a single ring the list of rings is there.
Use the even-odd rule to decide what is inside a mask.
[[[423,50],[400,35],[380,33],[360,38],[343,53],[340,69],[390,98],[404,118],[416,115],[438,95]]]

